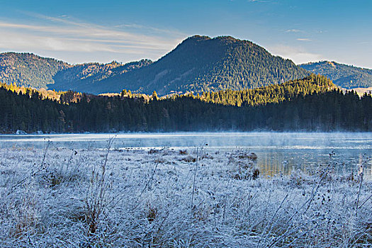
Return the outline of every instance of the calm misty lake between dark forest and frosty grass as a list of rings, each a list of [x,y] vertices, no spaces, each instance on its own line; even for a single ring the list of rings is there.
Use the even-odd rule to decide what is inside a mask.
[[[356,174],[361,164],[372,179],[372,133],[123,133],[63,135],[0,135],[0,147],[70,149],[105,148],[113,138],[113,149],[163,148],[204,152],[247,150],[258,156],[257,165],[265,176],[290,174],[295,169],[315,173],[319,165],[329,164],[332,156],[338,174]]]

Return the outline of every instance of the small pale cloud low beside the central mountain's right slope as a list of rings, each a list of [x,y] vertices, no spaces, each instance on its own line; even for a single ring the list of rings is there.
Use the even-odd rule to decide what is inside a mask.
[[[319,61],[323,56],[317,53],[306,51],[303,47],[293,47],[288,45],[275,45],[268,49],[274,55],[278,55],[290,60],[295,64],[302,64],[306,62]]]

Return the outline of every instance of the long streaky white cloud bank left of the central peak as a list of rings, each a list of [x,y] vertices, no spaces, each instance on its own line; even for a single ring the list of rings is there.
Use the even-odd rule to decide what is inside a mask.
[[[37,24],[0,21],[0,50],[112,52],[157,59],[186,36],[178,31],[137,24],[99,26],[68,16],[33,16]]]

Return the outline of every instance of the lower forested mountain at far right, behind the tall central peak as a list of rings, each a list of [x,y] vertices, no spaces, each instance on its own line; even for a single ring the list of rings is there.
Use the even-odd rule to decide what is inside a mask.
[[[309,72],[322,74],[331,79],[337,86],[345,89],[368,88],[372,86],[372,69],[329,61],[310,62],[299,66]]]

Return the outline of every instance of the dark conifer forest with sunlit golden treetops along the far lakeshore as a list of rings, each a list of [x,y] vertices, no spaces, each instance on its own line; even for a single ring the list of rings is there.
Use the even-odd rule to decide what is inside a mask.
[[[111,97],[59,94],[57,100],[34,89],[1,84],[1,133],[372,130],[371,95],[343,93],[329,79],[315,75],[260,89],[196,96],[159,98],[156,92],[144,96],[126,90]]]

